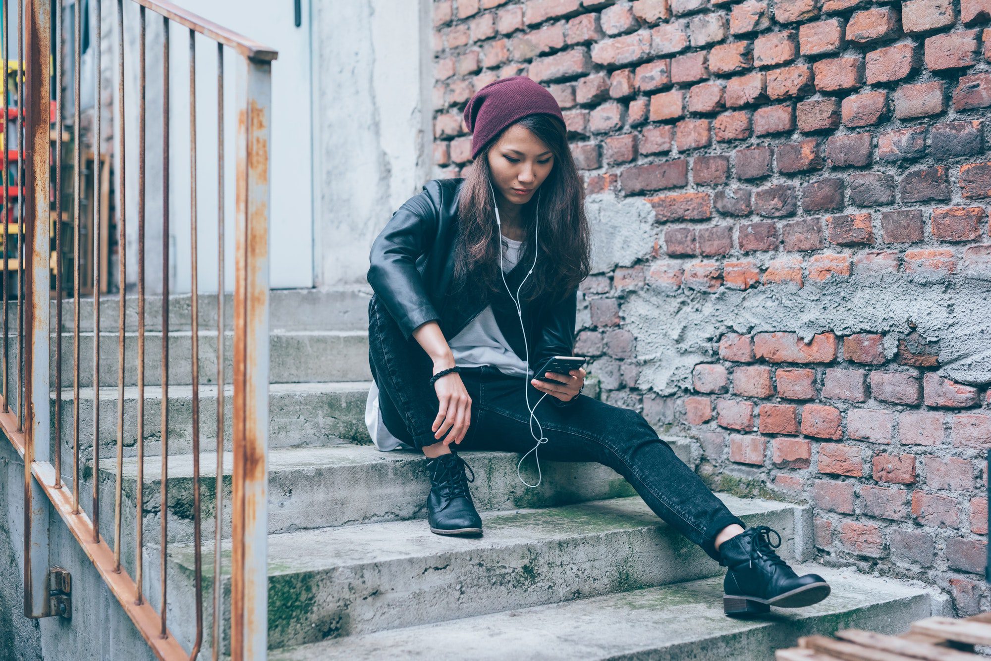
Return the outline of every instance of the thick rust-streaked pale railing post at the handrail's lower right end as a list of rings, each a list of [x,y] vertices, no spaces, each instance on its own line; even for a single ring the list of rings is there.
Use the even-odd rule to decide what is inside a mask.
[[[267,454],[272,63],[241,58],[236,90],[231,659],[242,661],[266,658],[269,637]]]

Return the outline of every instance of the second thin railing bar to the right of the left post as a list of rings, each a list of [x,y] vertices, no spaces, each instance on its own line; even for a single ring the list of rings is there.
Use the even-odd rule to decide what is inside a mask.
[[[74,3],[74,36],[75,64],[72,68],[73,88],[72,104],[74,117],[72,120],[72,177],[73,195],[72,200],[72,514],[79,514],[79,279],[82,277],[82,266],[79,264],[81,255],[81,244],[79,229],[82,227],[80,220],[80,200],[82,199],[82,145],[79,143],[79,122],[81,113],[81,102],[79,94],[82,87],[82,71],[80,65],[82,61],[82,3],[76,0]],[[5,287],[6,290],[6,287]],[[6,304],[4,305],[6,308]]]

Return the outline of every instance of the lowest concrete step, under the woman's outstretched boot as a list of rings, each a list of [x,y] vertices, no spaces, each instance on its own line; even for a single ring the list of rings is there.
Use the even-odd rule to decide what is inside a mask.
[[[449,625],[411,626],[335,638],[270,652],[270,661],[318,659],[733,659],[773,661],[774,650],[799,636],[841,628],[901,633],[915,619],[941,612],[928,588],[814,564],[832,587],[804,609],[736,619],[722,614],[722,576],[581,599]],[[453,601],[453,600],[452,600]]]

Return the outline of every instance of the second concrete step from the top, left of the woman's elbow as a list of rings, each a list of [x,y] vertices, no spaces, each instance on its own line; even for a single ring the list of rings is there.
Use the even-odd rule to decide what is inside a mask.
[[[217,335],[216,331],[198,333],[199,380],[201,384],[216,383]],[[100,332],[100,386],[117,385],[117,332]],[[8,389],[16,392],[17,345],[11,337],[9,347]],[[72,387],[74,351],[71,333],[62,333],[63,388]],[[232,380],[234,334],[225,334],[224,359],[225,382]],[[52,347],[55,356],[55,347]],[[323,381],[371,381],[369,369],[368,329],[364,331],[273,331],[269,344],[270,383],[314,383]],[[125,333],[124,385],[138,383],[138,334]],[[145,384],[162,383],[162,333],[145,333]],[[0,377],[2,378],[2,377]],[[55,384],[55,358],[52,360],[50,378]],[[168,333],[168,384],[192,383],[192,333],[169,331]],[[93,333],[79,334],[79,385],[93,385]]]

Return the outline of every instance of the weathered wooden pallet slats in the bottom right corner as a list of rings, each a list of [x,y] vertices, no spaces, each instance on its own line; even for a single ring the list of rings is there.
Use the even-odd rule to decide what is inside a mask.
[[[974,645],[991,645],[991,613],[971,617],[927,617],[898,636],[842,629],[835,638],[811,635],[798,647],[779,649],[777,661],[977,661]]]

